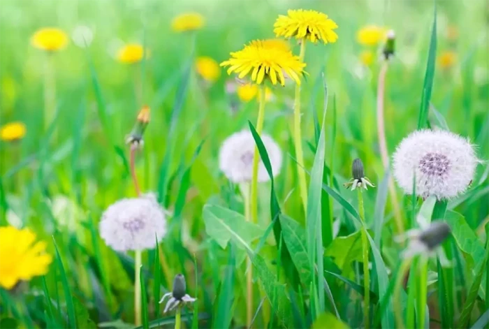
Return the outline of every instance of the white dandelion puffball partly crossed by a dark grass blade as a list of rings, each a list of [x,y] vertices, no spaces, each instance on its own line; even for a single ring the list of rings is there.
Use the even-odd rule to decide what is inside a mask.
[[[261,140],[270,159],[274,177],[282,168],[282,151],[279,145],[267,134],[261,134]],[[245,183],[251,181],[253,173],[253,158],[255,152],[255,140],[250,131],[243,130],[233,133],[224,140],[219,150],[219,169],[233,183]],[[270,180],[263,161],[258,163],[258,182]]]

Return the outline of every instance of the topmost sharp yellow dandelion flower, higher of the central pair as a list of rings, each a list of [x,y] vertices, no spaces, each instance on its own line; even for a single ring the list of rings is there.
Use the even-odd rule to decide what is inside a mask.
[[[335,43],[338,35],[333,31],[337,24],[328,15],[316,10],[289,10],[287,15],[279,15],[275,21],[274,33],[285,38],[306,39],[313,43]]]

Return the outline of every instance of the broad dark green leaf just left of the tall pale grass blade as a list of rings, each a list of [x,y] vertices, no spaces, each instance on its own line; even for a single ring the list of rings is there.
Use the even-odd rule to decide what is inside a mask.
[[[307,261],[305,230],[297,221],[284,214],[279,218],[282,224],[282,235],[295,268],[299,272],[300,281],[307,286],[311,282],[311,268]]]

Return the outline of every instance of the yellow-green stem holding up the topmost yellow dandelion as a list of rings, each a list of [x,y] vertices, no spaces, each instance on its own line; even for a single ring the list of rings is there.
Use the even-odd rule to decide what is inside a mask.
[[[300,43],[300,61],[304,61],[305,55],[305,40]],[[302,198],[302,205],[304,207],[304,212],[307,211],[307,183],[305,177],[305,170],[302,168],[304,166],[304,155],[302,154],[302,140],[300,133],[300,85],[295,85],[295,98],[293,105],[293,118],[294,118],[294,128],[293,128],[293,138],[295,144],[295,158],[297,159],[297,172],[299,175],[299,191],[300,198]]]

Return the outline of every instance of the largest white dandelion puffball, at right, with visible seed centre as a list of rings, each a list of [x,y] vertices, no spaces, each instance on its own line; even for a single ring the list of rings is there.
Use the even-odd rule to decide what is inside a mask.
[[[393,155],[394,177],[407,194],[448,199],[464,192],[477,163],[469,140],[448,131],[415,131],[404,138]]]

